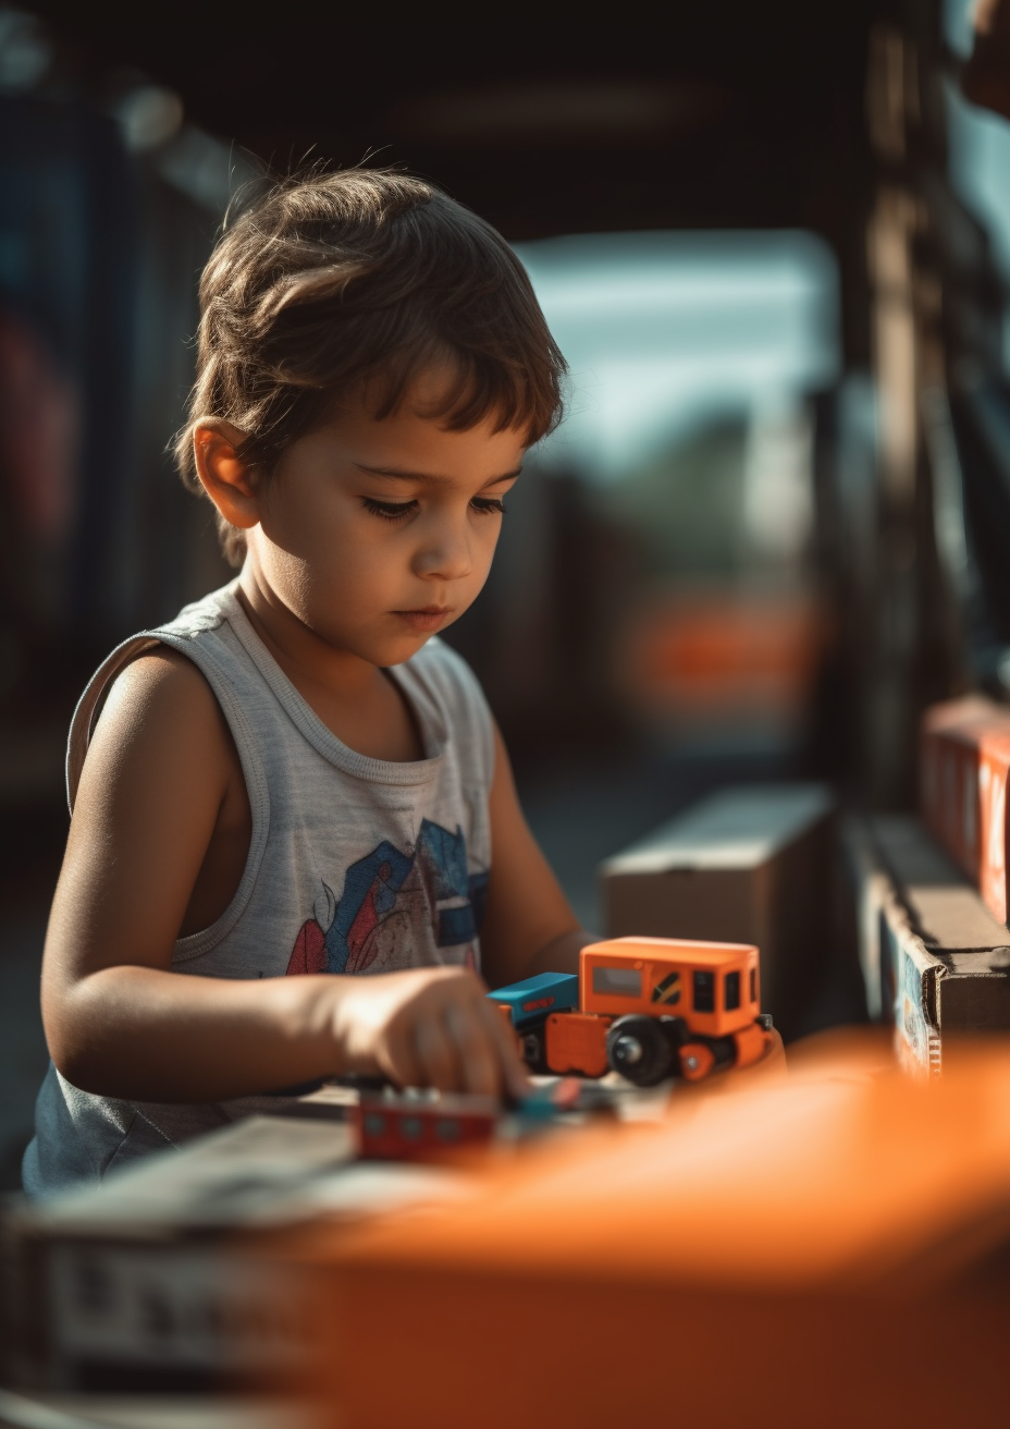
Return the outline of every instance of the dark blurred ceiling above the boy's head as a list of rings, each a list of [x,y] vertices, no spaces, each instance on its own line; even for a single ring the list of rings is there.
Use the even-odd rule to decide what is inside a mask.
[[[30,0],[29,0],[30,3]],[[279,170],[366,154],[513,239],[803,226],[844,246],[871,0],[604,10],[37,0],[100,89],[124,67]]]

